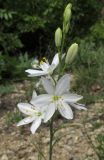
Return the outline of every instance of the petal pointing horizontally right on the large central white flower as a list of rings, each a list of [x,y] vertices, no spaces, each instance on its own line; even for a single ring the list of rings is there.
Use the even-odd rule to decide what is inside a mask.
[[[64,94],[64,95],[62,95],[62,98],[63,98],[64,102],[70,103],[70,102],[79,101],[80,99],[83,98],[83,96],[77,95],[77,94]]]

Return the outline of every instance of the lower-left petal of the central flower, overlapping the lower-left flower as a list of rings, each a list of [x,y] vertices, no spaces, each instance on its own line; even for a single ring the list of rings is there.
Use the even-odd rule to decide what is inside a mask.
[[[51,103],[50,105],[47,106],[47,109],[45,111],[44,115],[44,122],[46,123],[54,114],[55,112],[55,104]]]

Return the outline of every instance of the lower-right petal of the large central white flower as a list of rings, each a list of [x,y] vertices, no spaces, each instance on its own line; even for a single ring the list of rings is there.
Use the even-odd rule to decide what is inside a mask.
[[[60,114],[66,119],[73,119],[73,112],[67,103],[60,102],[58,104],[58,110]]]

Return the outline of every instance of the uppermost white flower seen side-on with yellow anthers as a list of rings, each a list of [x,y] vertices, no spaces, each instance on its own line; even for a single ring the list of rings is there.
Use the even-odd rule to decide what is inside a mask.
[[[43,60],[40,62],[40,66],[38,66],[36,69],[27,69],[26,72],[29,73],[29,77],[48,75],[53,73],[54,69],[58,66],[58,64],[59,56],[57,53],[54,56],[51,65],[46,58],[43,58]],[[39,70],[39,68],[41,70]]]

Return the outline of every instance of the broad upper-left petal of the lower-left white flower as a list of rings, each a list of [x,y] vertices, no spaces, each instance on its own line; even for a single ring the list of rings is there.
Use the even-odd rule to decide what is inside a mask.
[[[18,103],[17,107],[22,113],[26,115],[33,115],[34,113],[36,113],[36,110],[29,103]]]

